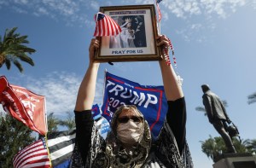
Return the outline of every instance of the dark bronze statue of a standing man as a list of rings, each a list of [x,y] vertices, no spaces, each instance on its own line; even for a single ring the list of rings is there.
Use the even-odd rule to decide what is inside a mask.
[[[234,147],[229,132],[227,131],[227,123],[230,124],[231,120],[226,113],[224,104],[220,101],[219,97],[210,90],[208,84],[202,84],[201,89],[204,92],[202,100],[207,111],[209,122],[224,139],[224,143],[228,148],[228,153],[236,153],[236,148]]]

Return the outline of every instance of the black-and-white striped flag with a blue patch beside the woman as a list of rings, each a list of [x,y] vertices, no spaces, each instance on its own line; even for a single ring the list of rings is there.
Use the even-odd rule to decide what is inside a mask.
[[[75,130],[48,135],[49,157],[53,167],[68,167],[75,145],[75,137]]]

